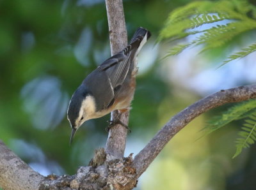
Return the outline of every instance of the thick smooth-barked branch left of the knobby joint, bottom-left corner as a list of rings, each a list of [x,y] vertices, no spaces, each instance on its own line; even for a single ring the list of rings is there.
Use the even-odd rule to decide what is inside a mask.
[[[0,140],[0,184],[3,189],[38,189],[44,176],[35,172]]]

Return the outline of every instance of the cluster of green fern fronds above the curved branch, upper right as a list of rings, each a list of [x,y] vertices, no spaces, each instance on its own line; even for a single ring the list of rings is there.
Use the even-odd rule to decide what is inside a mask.
[[[255,6],[245,0],[189,3],[170,13],[158,40],[175,41],[196,34],[195,40],[176,45],[166,56],[177,55],[185,48],[201,44],[204,45],[202,51],[222,47],[239,34],[256,29],[255,9]],[[248,14],[251,17],[248,17]],[[208,26],[201,27],[205,24]],[[243,48],[243,51],[230,55],[223,64],[242,58],[255,50],[255,44]]]

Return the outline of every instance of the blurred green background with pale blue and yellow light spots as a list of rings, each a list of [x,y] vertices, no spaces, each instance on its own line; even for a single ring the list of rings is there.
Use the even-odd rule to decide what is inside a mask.
[[[255,54],[219,68],[230,52],[252,41],[198,54],[200,47],[161,59],[170,43],[156,43],[168,13],[191,1],[125,0],[127,31],[145,27],[152,38],[139,57],[125,156],[137,154],[165,122],[196,100],[256,81]],[[67,106],[88,73],[110,56],[103,0],[0,1],[0,139],[42,175],[74,174],[104,147],[109,115],[86,122],[72,146]],[[255,38],[254,38],[255,39]],[[211,135],[200,132],[214,115],[196,118],[166,145],[136,189],[255,189],[256,147],[232,159],[240,122]],[[198,140],[198,138],[200,138]]]

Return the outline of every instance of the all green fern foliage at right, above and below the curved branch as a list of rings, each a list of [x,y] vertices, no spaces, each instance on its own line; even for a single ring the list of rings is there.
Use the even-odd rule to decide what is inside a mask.
[[[248,16],[250,15],[250,17]],[[176,41],[187,36],[194,36],[187,43],[175,45],[168,51],[167,56],[177,55],[188,47],[203,45],[202,52],[212,48],[224,47],[239,34],[256,29],[256,6],[246,0],[230,1],[195,1],[170,13],[166,24],[159,34],[158,41]],[[256,42],[242,48],[227,57],[223,62],[240,59],[256,51]],[[221,64],[221,66],[223,65]],[[223,114],[214,117],[204,128],[207,134],[220,129],[228,123],[249,117],[239,132],[241,138],[236,140],[236,157],[244,147],[249,147],[256,138],[256,101],[238,103]]]

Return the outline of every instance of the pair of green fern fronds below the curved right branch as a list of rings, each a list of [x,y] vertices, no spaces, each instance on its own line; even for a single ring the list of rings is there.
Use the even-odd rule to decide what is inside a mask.
[[[250,119],[245,119],[246,117]],[[237,121],[240,119],[245,119],[243,131],[238,133],[240,138],[236,140],[236,153],[233,157],[239,155],[243,148],[249,147],[251,144],[255,143],[256,140],[256,101],[251,99],[243,103],[238,103],[232,106],[227,111],[218,115],[209,122],[209,124],[204,128],[206,135],[220,129],[221,127],[227,125],[232,121]]]

